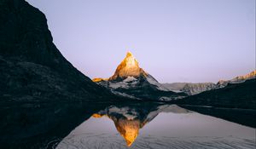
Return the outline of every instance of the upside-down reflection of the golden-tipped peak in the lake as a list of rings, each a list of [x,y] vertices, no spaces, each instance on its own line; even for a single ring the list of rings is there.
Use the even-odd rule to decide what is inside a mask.
[[[139,129],[151,122],[160,112],[188,113],[189,111],[176,105],[108,106],[105,110],[93,114],[92,117],[105,116],[112,119],[127,146],[131,146],[137,138]]]

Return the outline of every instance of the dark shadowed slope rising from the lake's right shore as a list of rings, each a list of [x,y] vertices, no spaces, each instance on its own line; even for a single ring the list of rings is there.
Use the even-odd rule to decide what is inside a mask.
[[[256,79],[243,83],[228,83],[224,88],[191,95],[173,103],[182,105],[214,106],[256,110]]]

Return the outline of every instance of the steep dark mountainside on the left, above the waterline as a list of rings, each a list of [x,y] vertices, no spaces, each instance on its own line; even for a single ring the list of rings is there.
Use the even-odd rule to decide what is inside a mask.
[[[43,13],[24,0],[0,2],[1,101],[114,98],[56,49]]]

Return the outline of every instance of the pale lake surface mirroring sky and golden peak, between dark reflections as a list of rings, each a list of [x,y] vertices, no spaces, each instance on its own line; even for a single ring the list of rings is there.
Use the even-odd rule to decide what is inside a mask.
[[[253,149],[256,145],[252,127],[176,105],[146,104],[108,106],[73,129],[56,148]]]

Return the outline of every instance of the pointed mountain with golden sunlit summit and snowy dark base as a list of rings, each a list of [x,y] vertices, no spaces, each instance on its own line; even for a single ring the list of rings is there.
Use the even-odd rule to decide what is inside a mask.
[[[185,94],[166,89],[143,68],[131,52],[121,61],[112,77],[94,78],[94,82],[111,89],[113,93],[142,100],[176,100]]]

